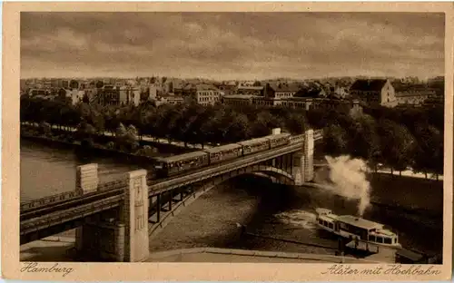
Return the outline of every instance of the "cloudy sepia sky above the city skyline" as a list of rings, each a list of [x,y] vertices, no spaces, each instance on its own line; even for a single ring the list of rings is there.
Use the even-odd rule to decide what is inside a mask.
[[[444,15],[21,13],[21,78],[444,73]]]

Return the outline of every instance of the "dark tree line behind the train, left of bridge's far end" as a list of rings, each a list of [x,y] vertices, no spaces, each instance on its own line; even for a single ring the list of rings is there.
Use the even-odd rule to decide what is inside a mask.
[[[21,98],[20,115],[21,122],[47,122],[58,129],[77,128],[93,134],[115,134],[120,125],[133,125],[139,140],[152,136],[202,146],[261,137],[270,134],[271,128],[281,127],[293,134],[308,128],[304,112],[221,103],[202,106],[188,102],[156,107],[144,102],[137,107],[118,107],[85,102],[71,105],[25,96]]]

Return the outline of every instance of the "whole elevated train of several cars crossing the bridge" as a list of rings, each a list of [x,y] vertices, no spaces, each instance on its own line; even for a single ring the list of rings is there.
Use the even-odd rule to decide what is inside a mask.
[[[154,166],[158,178],[171,177],[185,171],[199,169],[260,151],[269,151],[291,143],[304,141],[304,134],[291,136],[290,133],[271,134],[262,138],[237,142],[211,149],[194,151],[167,158],[156,159]]]

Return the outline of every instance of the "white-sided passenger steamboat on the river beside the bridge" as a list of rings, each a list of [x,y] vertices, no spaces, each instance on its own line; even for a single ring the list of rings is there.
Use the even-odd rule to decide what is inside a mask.
[[[351,215],[336,215],[327,209],[319,208],[316,212],[318,227],[342,238],[392,249],[402,248],[398,235],[385,229],[383,224]]]

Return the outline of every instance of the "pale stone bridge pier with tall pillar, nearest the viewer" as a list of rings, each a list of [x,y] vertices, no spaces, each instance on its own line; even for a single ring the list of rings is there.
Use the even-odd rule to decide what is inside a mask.
[[[128,172],[126,179],[123,207],[114,211],[116,218],[100,217],[76,229],[75,248],[81,255],[120,262],[148,257],[146,171]]]

